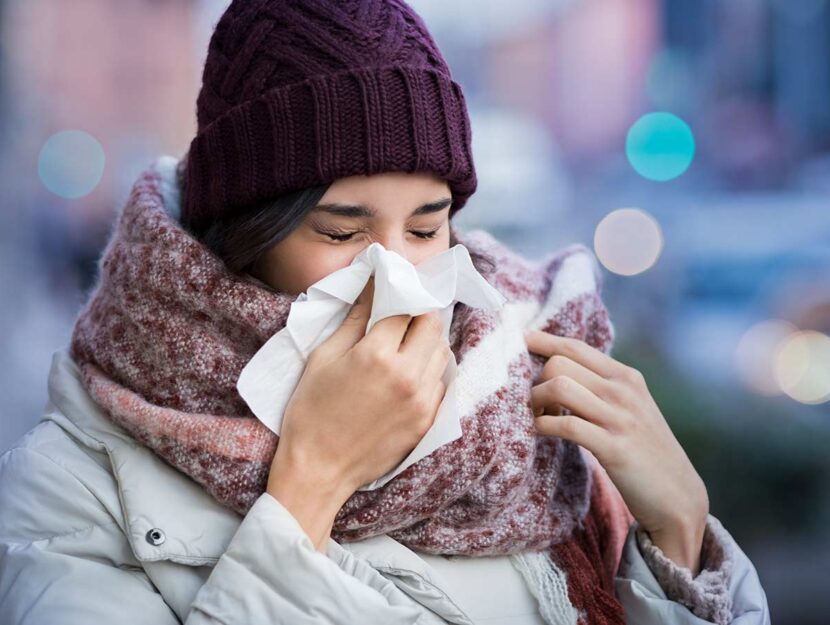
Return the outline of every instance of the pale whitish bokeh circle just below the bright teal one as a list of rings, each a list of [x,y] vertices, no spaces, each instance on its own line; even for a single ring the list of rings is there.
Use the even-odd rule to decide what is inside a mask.
[[[608,213],[594,230],[594,252],[609,270],[633,276],[649,269],[663,250],[663,231],[651,215],[639,208]]]

